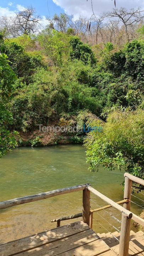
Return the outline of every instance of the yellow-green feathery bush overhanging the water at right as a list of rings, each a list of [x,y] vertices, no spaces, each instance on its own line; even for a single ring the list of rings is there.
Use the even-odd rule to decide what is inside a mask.
[[[91,171],[102,165],[108,170],[124,168],[130,174],[144,178],[144,111],[113,107],[106,122],[89,114],[90,126],[101,126],[101,132],[90,132],[85,139],[87,161]]]

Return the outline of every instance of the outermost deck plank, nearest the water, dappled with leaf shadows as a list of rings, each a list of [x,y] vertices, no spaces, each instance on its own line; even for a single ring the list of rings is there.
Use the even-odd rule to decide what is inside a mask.
[[[51,243],[53,241],[66,238],[70,235],[81,233],[82,231],[88,229],[90,229],[89,226],[80,221],[45,232],[41,232],[32,236],[27,236],[26,238],[18,239],[0,245],[0,255],[15,255],[18,252],[34,249],[36,247]]]

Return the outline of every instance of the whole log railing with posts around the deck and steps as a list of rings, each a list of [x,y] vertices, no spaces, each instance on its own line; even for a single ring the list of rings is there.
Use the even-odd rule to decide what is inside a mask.
[[[78,186],[61,188],[58,190],[52,190],[45,193],[34,194],[31,196],[25,196],[20,198],[11,199],[8,201],[0,202],[0,209],[9,208],[12,206],[17,206],[20,204],[25,204],[29,202],[34,202],[66,193],[76,192],[82,190],[82,213],[78,213],[72,216],[63,217],[59,219],[51,220],[51,222],[57,222],[57,226],[60,226],[61,220],[74,219],[82,217],[84,223],[87,223],[92,228],[92,216],[94,212],[103,210],[106,208],[114,207],[119,212],[122,213],[122,224],[121,224],[121,235],[119,242],[119,256],[127,256],[129,249],[129,238],[130,238],[130,220],[133,219],[138,222],[140,225],[144,226],[144,220],[138,217],[137,215],[130,212],[130,200],[131,200],[131,190],[132,190],[132,181],[137,182],[144,186],[144,180],[125,173],[125,186],[124,186],[124,199],[115,203],[110,198],[104,196],[102,193],[98,192],[90,186],[89,183],[82,184]],[[108,203],[107,206],[100,207],[98,209],[90,209],[90,192],[95,194],[97,197],[101,198],[103,201]],[[123,207],[120,204],[123,203]]]

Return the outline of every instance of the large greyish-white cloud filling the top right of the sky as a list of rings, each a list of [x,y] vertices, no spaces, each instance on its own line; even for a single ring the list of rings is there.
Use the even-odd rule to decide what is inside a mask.
[[[53,2],[64,9],[68,15],[74,15],[74,18],[78,18],[80,15],[90,18],[92,15],[91,0],[53,0]],[[116,8],[130,9],[138,6],[144,7],[144,0],[116,0]],[[112,8],[114,8],[114,0],[93,0],[93,9],[96,15],[110,11]]]

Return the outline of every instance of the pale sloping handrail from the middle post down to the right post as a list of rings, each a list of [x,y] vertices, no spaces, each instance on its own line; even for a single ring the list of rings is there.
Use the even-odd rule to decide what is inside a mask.
[[[115,209],[119,210],[119,212],[126,214],[129,219],[132,218],[132,216],[133,216],[132,212],[130,212],[129,210],[126,210],[124,207],[122,207],[119,204],[113,202],[110,198],[104,196],[103,194],[101,194],[100,192],[98,192],[97,190],[92,188],[91,186],[87,185],[86,187],[87,187],[87,189],[89,191],[94,193],[97,197],[101,198],[103,201],[105,201],[106,203],[110,204]]]

